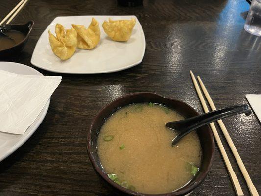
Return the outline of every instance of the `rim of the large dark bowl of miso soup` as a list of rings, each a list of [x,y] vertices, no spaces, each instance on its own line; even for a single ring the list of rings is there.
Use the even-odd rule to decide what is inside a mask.
[[[115,98],[114,100],[110,101],[108,104],[106,104],[102,109],[100,109],[97,114],[95,115],[95,117],[92,119],[92,123],[91,123],[91,126],[88,130],[88,135],[87,135],[87,142],[86,142],[86,147],[87,147],[87,152],[88,152],[88,156],[89,156],[89,159],[92,163],[92,165],[94,166],[95,170],[99,173],[99,175],[107,182],[109,183],[111,186],[113,186],[114,188],[124,192],[124,193],[127,193],[127,194],[131,194],[131,195],[134,195],[134,196],[176,196],[176,195],[185,195],[185,194],[188,194],[190,192],[192,192],[197,186],[199,186],[201,184],[201,182],[206,178],[208,172],[210,171],[211,169],[211,166],[213,164],[213,161],[214,161],[214,149],[215,149],[215,145],[214,145],[214,136],[213,136],[213,133],[208,125],[208,129],[209,129],[209,132],[210,132],[210,139],[211,139],[211,147],[212,147],[212,150],[211,150],[211,157],[210,157],[210,162],[206,168],[206,170],[204,170],[204,172],[202,172],[201,175],[198,176],[198,179],[193,183],[191,184],[190,186],[188,187],[185,187],[184,189],[180,190],[178,189],[177,191],[173,191],[173,192],[169,192],[169,193],[162,193],[162,194],[146,194],[146,193],[141,193],[141,192],[136,192],[136,191],[132,191],[130,189],[126,189],[120,185],[118,185],[117,183],[113,182],[105,172],[102,172],[102,170],[99,168],[98,164],[95,162],[94,160],[94,157],[92,156],[92,153],[93,151],[89,150],[90,147],[91,147],[91,133],[92,133],[92,129],[93,129],[93,126],[94,126],[94,122],[95,122],[95,119],[110,105],[112,105],[114,102],[118,101],[119,99],[124,99],[124,98],[127,98],[127,97],[131,97],[131,96],[135,96],[135,95],[142,95],[142,94],[152,94],[152,95],[155,95],[155,96],[158,96],[158,97],[161,97],[161,98],[164,98],[164,99],[168,99],[168,100],[171,100],[171,101],[179,101],[179,102],[182,102],[183,104],[187,105],[191,110],[193,110],[193,112],[195,112],[196,114],[199,115],[199,113],[194,109],[192,108],[189,104],[185,103],[184,101],[181,101],[181,100],[178,100],[178,99],[173,99],[173,98],[167,98],[165,96],[162,96],[162,95],[159,95],[157,93],[152,93],[152,92],[136,92],[136,93],[129,93],[129,94],[125,94],[125,95],[122,95],[118,98]],[[186,186],[186,185],[185,185]]]

